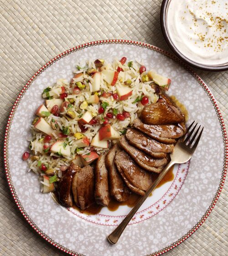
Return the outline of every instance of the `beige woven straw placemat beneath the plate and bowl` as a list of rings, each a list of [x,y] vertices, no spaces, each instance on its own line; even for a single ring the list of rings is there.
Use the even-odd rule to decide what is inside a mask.
[[[160,7],[161,0],[0,0],[1,147],[16,96],[27,80],[57,54],[107,38],[143,41],[170,51],[161,34]],[[228,72],[196,72],[211,89],[228,125]],[[62,255],[19,213],[5,180],[2,157],[0,160],[0,255]],[[202,227],[167,256],[226,255],[226,184]]]

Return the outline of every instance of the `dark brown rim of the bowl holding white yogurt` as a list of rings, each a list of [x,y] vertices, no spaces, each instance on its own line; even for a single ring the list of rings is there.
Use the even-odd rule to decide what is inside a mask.
[[[206,70],[206,71],[225,71],[225,70],[228,70],[228,64],[223,65],[223,66],[199,64],[199,63],[196,63],[196,62],[192,61],[191,59],[188,59],[184,54],[182,54],[180,51],[178,51],[178,49],[176,48],[175,44],[172,42],[172,40],[169,36],[168,29],[167,29],[167,26],[166,26],[167,25],[166,24],[166,9],[167,9],[167,5],[168,5],[169,1],[171,1],[171,0],[163,0],[162,3],[161,3],[160,24],[161,24],[161,32],[162,32],[162,34],[163,34],[163,36],[166,40],[166,43],[171,48],[171,50],[177,55],[177,57],[179,59],[181,59],[182,61],[191,65],[194,68],[202,69],[202,70]]]

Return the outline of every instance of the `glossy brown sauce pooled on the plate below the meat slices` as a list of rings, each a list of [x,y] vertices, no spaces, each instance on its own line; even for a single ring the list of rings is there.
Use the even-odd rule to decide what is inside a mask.
[[[173,174],[173,167],[172,166],[170,168],[170,170],[166,173],[166,175],[164,176],[164,178],[160,181],[160,183],[157,185],[157,187],[161,187],[163,184],[165,184],[166,182],[168,181],[173,181],[174,180],[174,174]],[[154,178],[156,179],[156,177],[158,176],[158,174],[155,174],[154,175]],[[152,196],[152,193],[150,194],[149,197]],[[138,199],[140,198],[139,195],[136,195],[135,193],[132,193],[130,195],[130,197],[128,198],[127,201],[125,202],[118,202],[116,201],[114,198],[111,198],[110,202],[109,202],[109,205],[107,206],[107,208],[109,209],[109,211],[116,211],[120,205],[127,205],[129,207],[134,207],[135,203],[138,201]],[[97,214],[101,211],[101,209],[103,208],[104,206],[102,205],[98,205],[96,203],[92,204],[90,207],[88,207],[87,209],[85,210],[82,210],[80,209],[77,205],[73,205],[73,208],[78,210],[78,212],[80,213],[84,213],[86,215],[94,215],[94,214]]]

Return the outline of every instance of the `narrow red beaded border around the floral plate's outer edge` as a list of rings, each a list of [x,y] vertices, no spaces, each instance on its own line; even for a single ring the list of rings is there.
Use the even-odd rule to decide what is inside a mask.
[[[4,154],[4,167],[5,167],[5,175],[6,175],[6,179],[8,182],[8,186],[10,188],[10,192],[16,202],[17,207],[19,208],[20,212],[22,213],[22,215],[25,217],[26,221],[31,225],[31,227],[39,234],[41,235],[42,238],[44,238],[47,242],[49,242],[50,244],[54,245],[55,247],[57,247],[58,249],[60,249],[61,251],[64,251],[70,255],[73,256],[83,256],[82,254],[78,253],[78,252],[74,252],[74,251],[70,251],[68,248],[60,245],[59,243],[55,242],[54,240],[52,240],[49,236],[47,236],[45,233],[42,232],[41,229],[39,229],[39,227],[36,226],[36,224],[32,221],[32,219],[30,219],[29,215],[26,213],[26,211],[24,210],[23,206],[21,205],[21,202],[16,194],[15,188],[13,186],[13,183],[11,181],[11,175],[10,175],[10,170],[8,168],[9,166],[9,160],[8,160],[8,144],[9,144],[9,133],[10,133],[10,127],[11,127],[11,123],[14,117],[14,113],[16,111],[16,108],[18,107],[19,102],[21,101],[21,98],[23,97],[23,95],[25,94],[26,90],[29,88],[29,86],[31,85],[31,83],[36,80],[37,76],[40,75],[44,70],[46,70],[49,66],[51,66],[53,63],[55,63],[57,60],[62,59],[64,56],[73,53],[75,51],[78,51],[80,49],[83,48],[88,48],[91,46],[96,46],[96,45],[102,45],[102,44],[128,44],[128,45],[136,45],[139,47],[143,47],[143,48],[148,48],[150,50],[159,52],[163,55],[165,55],[166,57],[174,60],[176,63],[181,64],[199,83],[199,85],[201,85],[204,89],[204,91],[206,91],[207,96],[209,96],[214,109],[217,113],[218,119],[219,119],[219,123],[221,126],[221,130],[222,130],[222,134],[223,134],[223,143],[224,143],[224,163],[223,163],[223,173],[222,173],[222,177],[220,179],[220,183],[219,183],[219,187],[218,190],[212,200],[212,203],[210,204],[209,208],[207,209],[206,213],[204,213],[204,215],[202,216],[202,218],[197,222],[197,224],[195,224],[193,226],[192,229],[190,229],[186,235],[183,235],[179,240],[177,240],[176,242],[172,243],[171,245],[167,246],[166,248],[161,249],[160,251],[154,252],[152,254],[150,254],[149,256],[159,256],[162,255],[163,253],[170,251],[171,249],[175,248],[177,245],[181,244],[183,241],[185,241],[188,237],[190,237],[203,223],[204,221],[207,219],[207,217],[209,216],[209,214],[212,212],[212,209],[214,208],[215,204],[218,201],[218,197],[220,196],[222,189],[223,189],[223,185],[225,182],[225,178],[226,178],[226,174],[227,174],[227,168],[228,168],[228,139],[227,139],[227,132],[226,132],[226,128],[225,128],[225,124],[224,124],[224,120],[223,120],[223,116],[221,114],[221,111],[218,107],[218,104],[214,98],[214,96],[212,95],[211,91],[209,90],[209,88],[207,87],[207,85],[203,82],[203,80],[197,75],[197,73],[195,71],[193,71],[187,64],[185,64],[183,61],[181,61],[180,59],[178,59],[176,56],[174,56],[171,53],[166,52],[165,50],[155,47],[151,44],[148,43],[142,43],[142,42],[138,42],[138,41],[132,41],[132,40],[124,40],[124,39],[106,39],[106,40],[99,40],[99,41],[93,41],[90,43],[84,43],[81,44],[79,46],[73,47],[71,49],[66,50],[63,53],[60,53],[59,55],[57,55],[56,57],[54,57],[53,59],[49,60],[46,64],[44,64],[26,83],[26,85],[22,88],[21,92],[19,93],[19,95],[16,98],[16,101],[12,107],[12,110],[10,112],[10,116],[8,119],[8,122],[6,124],[6,128],[5,128],[5,138],[4,138],[4,150],[3,150],[3,154]]]

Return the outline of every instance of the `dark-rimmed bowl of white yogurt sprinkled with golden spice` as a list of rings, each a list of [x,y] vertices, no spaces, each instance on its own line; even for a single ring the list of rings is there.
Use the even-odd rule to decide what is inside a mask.
[[[227,0],[163,0],[161,29],[170,48],[188,64],[228,70]]]

